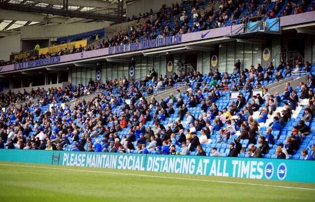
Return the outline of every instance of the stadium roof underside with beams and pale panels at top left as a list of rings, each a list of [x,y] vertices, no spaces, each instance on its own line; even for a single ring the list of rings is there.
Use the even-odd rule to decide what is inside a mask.
[[[63,4],[67,2],[68,4]],[[3,0],[0,2],[0,31],[17,31],[21,26],[49,23],[82,23],[100,21],[97,15],[107,15],[107,21],[118,16],[119,0]],[[61,15],[57,15],[58,10]],[[41,12],[42,11],[42,12]],[[71,15],[77,12],[78,16]],[[56,13],[56,14],[52,14]],[[82,15],[83,13],[83,15]],[[84,16],[82,18],[82,16]],[[96,16],[95,18],[93,16]],[[113,18],[110,18],[113,17]]]

